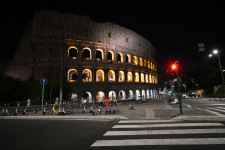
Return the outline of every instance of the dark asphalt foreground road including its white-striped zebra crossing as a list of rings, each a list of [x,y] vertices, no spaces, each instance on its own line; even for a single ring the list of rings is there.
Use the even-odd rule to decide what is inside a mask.
[[[143,121],[146,120],[119,122],[119,120],[2,119],[0,120],[0,145],[1,150],[209,150],[225,148],[225,122]],[[109,136],[105,136],[105,133]],[[111,135],[112,133],[116,135]],[[175,144],[171,144],[171,139],[175,140]],[[194,145],[193,142],[195,142]],[[112,146],[107,146],[107,143]],[[154,144],[151,145],[152,143]]]

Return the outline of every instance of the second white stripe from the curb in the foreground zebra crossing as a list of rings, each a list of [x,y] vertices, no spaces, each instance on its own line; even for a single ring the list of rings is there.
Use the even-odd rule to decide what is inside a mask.
[[[112,128],[155,128],[155,127],[185,127],[185,126],[224,126],[221,123],[171,123],[143,125],[114,125]]]

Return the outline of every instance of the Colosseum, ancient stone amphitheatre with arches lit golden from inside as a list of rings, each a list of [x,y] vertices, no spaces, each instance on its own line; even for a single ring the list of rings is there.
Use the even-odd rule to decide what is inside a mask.
[[[155,49],[125,27],[69,13],[37,11],[6,70],[40,80],[62,72],[72,99],[152,99],[158,96]]]

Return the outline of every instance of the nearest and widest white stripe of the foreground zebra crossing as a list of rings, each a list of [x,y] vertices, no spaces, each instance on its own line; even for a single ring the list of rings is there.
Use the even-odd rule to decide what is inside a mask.
[[[141,145],[209,145],[225,144],[225,138],[125,139],[98,140],[91,147]]]

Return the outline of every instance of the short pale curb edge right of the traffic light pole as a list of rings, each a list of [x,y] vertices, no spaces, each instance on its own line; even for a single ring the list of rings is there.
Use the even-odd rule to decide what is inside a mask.
[[[171,120],[211,120],[211,121],[225,121],[225,117],[221,116],[178,116]]]

